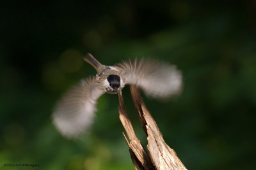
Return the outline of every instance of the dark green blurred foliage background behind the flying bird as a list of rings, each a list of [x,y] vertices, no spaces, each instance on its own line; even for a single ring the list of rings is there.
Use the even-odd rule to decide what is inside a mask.
[[[255,11],[253,0],[2,2],[0,169],[134,168],[115,95],[100,97],[92,132],[79,141],[52,125],[61,94],[96,73],[86,52],[106,65],[135,57],[176,64],[182,95],[166,103],[144,96],[166,143],[188,169],[255,169]],[[123,93],[146,146],[129,88]]]

